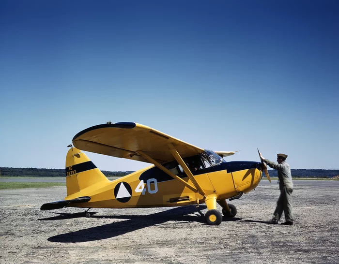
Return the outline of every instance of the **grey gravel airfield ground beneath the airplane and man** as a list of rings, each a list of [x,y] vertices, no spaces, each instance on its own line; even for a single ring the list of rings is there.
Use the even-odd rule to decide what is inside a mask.
[[[219,226],[205,224],[205,205],[91,209],[85,218],[78,208],[40,211],[65,187],[0,191],[0,263],[339,263],[339,181],[294,184],[293,226],[266,222],[276,180],[232,201],[237,216]]]

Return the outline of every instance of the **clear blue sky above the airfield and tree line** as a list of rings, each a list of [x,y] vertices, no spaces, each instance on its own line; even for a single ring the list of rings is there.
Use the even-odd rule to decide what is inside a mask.
[[[0,166],[64,168],[108,120],[339,169],[339,1],[1,0]]]

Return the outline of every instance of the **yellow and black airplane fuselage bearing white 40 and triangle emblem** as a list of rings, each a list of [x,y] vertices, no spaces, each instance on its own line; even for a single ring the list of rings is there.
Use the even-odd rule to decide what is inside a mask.
[[[215,197],[216,201],[232,198],[241,193],[251,191],[259,184],[262,176],[260,162],[226,162],[220,157],[220,161],[213,162],[209,160],[209,158],[213,158],[210,157],[210,153],[212,153],[213,156],[216,155],[212,151],[208,151],[202,155],[200,154],[184,159],[194,178],[205,191],[205,195],[190,190],[158,167],[152,165],[114,181],[103,180],[91,184],[88,187],[79,188],[80,191],[68,195],[65,200],[82,196],[91,197],[89,202],[72,205],[84,208],[135,208],[191,205],[204,203],[206,197],[211,196]],[[188,184],[193,185],[178,162],[171,161],[163,164],[163,166]],[[75,165],[73,165],[72,168],[74,167]],[[98,169],[95,167],[91,168],[91,170]],[[83,175],[86,178],[91,178],[91,175],[89,175],[91,170],[77,172],[76,175],[71,174],[66,176],[66,180],[71,181],[72,177],[77,177],[77,180],[80,182],[82,174],[86,174],[86,176]]]

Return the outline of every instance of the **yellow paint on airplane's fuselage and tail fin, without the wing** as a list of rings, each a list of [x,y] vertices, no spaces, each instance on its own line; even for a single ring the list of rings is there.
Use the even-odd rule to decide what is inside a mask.
[[[73,170],[74,165],[90,161],[88,157],[79,149],[73,147],[66,156],[66,168]],[[158,191],[149,193],[145,191],[136,192],[140,184],[139,177],[146,170],[154,166],[149,166],[128,176],[124,176],[115,181],[109,181],[99,169],[94,168],[88,171],[80,172],[75,175],[67,176],[67,197],[66,200],[75,199],[81,196],[90,196],[91,200],[87,203],[72,204],[75,207],[98,207],[98,208],[133,208],[133,207],[158,207],[158,206],[177,206],[193,205],[205,203],[208,209],[216,209],[216,202],[224,201],[239,194],[239,192],[248,192],[255,188],[260,179],[261,171],[250,169],[227,173],[218,171],[194,176],[199,182],[200,188],[204,190],[206,196],[194,192],[184,184],[176,180],[169,180],[157,183]],[[188,178],[182,178],[188,185],[193,185]],[[132,190],[131,198],[128,202],[119,202],[114,196],[114,188],[120,182],[129,184]],[[144,183],[147,189],[147,183]],[[154,182],[150,183],[150,191],[155,190]],[[219,203],[220,204],[220,203]],[[226,207],[227,206],[223,206]]]

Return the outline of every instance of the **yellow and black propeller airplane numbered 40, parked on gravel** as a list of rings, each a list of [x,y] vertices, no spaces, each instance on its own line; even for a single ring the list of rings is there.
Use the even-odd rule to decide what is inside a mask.
[[[205,203],[208,225],[235,217],[227,203],[253,190],[265,172],[263,161],[225,161],[236,151],[211,151],[193,146],[153,128],[133,122],[95,125],[78,132],[66,155],[67,197],[47,203],[41,210],[63,207],[138,208]],[[152,163],[110,181],[83,151]],[[258,150],[259,152],[259,150]]]

